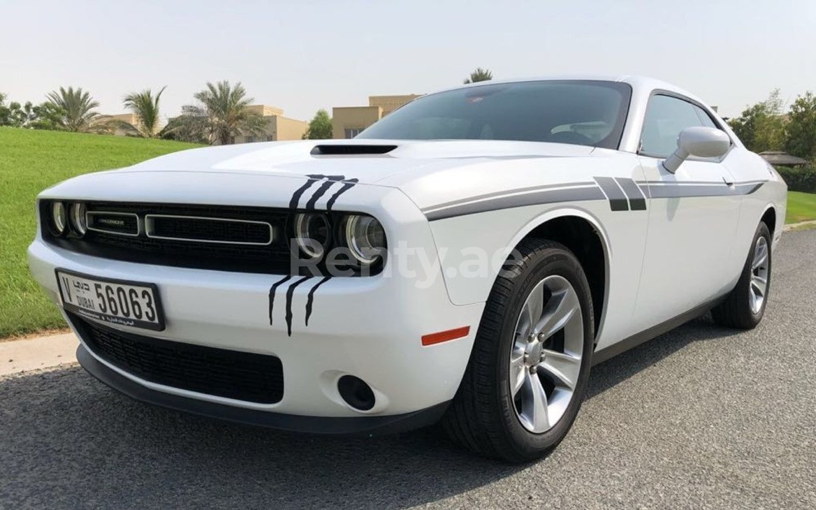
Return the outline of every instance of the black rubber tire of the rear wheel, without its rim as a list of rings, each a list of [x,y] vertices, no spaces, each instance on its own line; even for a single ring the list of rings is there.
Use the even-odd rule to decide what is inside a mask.
[[[756,243],[759,242],[760,237],[765,237],[765,242],[768,246],[768,276],[767,286],[765,287],[765,299],[762,301],[761,308],[755,313],[751,307],[751,299],[749,293],[751,292],[751,279],[754,273],[752,263],[754,260],[754,250]],[[733,327],[743,330],[751,330],[756,327],[765,315],[765,307],[768,305],[768,295],[771,283],[771,235],[770,229],[765,222],[760,222],[756,227],[753,241],[751,242],[751,249],[748,251],[745,265],[743,266],[743,273],[739,277],[737,286],[731,290],[729,295],[725,297],[725,301],[712,309],[712,318],[714,322],[721,326]]]

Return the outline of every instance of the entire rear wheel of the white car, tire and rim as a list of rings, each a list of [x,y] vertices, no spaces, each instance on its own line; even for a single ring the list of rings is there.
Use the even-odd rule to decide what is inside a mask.
[[[760,223],[754,234],[743,273],[722,304],[712,309],[714,322],[722,326],[752,329],[765,315],[770,290],[771,236],[768,225]]]

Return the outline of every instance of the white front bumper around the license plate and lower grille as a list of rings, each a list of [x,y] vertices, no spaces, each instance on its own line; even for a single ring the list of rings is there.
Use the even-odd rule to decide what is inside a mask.
[[[424,237],[419,239],[425,242]],[[308,432],[366,432],[390,429],[397,421],[415,424],[428,416],[438,417],[459,387],[484,306],[451,304],[441,276],[424,286],[396,274],[336,277],[314,293],[307,326],[305,308],[313,282],[320,280],[316,277],[292,290],[290,299],[287,285],[273,291],[270,324],[270,289],[281,275],[100,259],[51,246],[39,237],[29,246],[29,266],[58,306],[61,300],[55,268],[154,283],[161,294],[165,330],[107,326],[167,342],[279,357],[284,392],[277,403],[259,404],[154,384],[91,352],[81,331],[74,328],[82,342],[78,353],[82,366],[106,384],[162,406]],[[290,280],[294,281],[297,278]],[[291,315],[291,335],[287,332],[287,312]],[[423,335],[462,326],[470,326],[465,338],[427,347],[421,344]],[[373,388],[373,408],[355,410],[339,396],[337,381],[343,375],[354,375]],[[425,410],[423,420],[409,419]],[[371,419],[313,420],[317,418]]]

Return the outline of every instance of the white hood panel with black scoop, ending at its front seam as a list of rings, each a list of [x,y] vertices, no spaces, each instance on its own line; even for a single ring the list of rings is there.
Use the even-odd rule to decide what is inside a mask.
[[[592,149],[502,140],[303,140],[186,150],[126,170],[342,175],[360,184],[398,186],[418,177],[417,171],[424,174],[480,160],[588,156]]]

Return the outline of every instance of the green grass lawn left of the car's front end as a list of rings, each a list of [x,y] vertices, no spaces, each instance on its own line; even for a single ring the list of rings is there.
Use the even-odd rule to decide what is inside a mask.
[[[34,197],[74,175],[191,147],[195,145],[0,127],[0,338],[64,326],[29,276],[25,251],[36,229]]]

